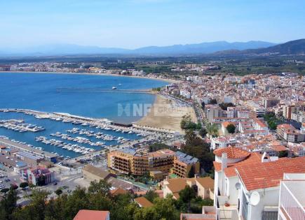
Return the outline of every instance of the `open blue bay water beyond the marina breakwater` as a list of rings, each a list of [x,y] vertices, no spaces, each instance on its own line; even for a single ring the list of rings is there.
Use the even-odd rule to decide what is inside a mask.
[[[108,75],[1,73],[0,108],[67,112],[130,123],[140,117],[118,117],[118,104],[125,107],[133,103],[154,103],[154,95],[82,92],[81,89],[150,89],[166,84],[160,80]],[[60,88],[75,88],[75,91],[58,92]]]

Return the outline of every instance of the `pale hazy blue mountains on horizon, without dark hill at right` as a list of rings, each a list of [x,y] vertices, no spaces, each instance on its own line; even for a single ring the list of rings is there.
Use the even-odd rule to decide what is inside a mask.
[[[233,42],[216,41],[187,45],[171,45],[165,47],[141,47],[128,50],[114,47],[82,46],[74,44],[50,44],[36,47],[3,49],[0,56],[59,56],[71,54],[136,54],[136,55],[179,55],[179,54],[210,54],[222,50],[248,50],[276,45],[264,41]]]

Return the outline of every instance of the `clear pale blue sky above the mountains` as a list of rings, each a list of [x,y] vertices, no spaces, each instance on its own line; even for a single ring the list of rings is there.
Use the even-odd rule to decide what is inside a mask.
[[[0,48],[305,38],[305,1],[0,0]]]

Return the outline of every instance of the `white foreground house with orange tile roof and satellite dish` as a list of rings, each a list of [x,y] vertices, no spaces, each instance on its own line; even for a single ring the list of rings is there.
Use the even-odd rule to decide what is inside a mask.
[[[238,174],[236,189],[238,189],[239,215],[245,220],[276,220],[280,203],[280,180],[283,179],[284,173],[303,173],[304,175],[305,158],[283,158],[270,161],[263,157],[262,162],[252,166],[237,166],[236,173]],[[290,200],[289,197],[283,197],[283,199]],[[290,210],[297,211],[294,206],[290,207]],[[296,216],[299,216],[299,211],[297,213]],[[301,211],[302,216],[303,214],[304,212]]]

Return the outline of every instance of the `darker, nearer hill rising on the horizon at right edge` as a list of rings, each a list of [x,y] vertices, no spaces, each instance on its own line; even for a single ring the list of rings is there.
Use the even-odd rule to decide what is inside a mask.
[[[224,50],[215,52],[216,55],[245,55],[245,54],[305,54],[305,39],[288,41],[271,47],[250,50]]]

